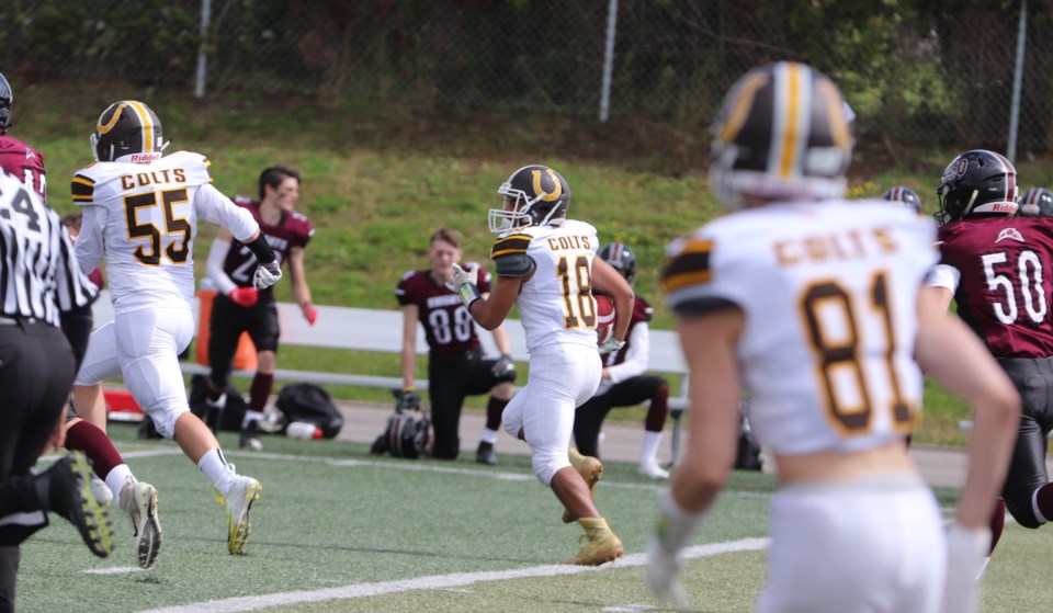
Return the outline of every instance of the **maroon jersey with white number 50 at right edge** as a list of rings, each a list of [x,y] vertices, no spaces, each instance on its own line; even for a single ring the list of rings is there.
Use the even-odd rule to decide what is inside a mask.
[[[958,315],[995,357],[1053,355],[1053,219],[986,217],[939,228],[940,264],[961,277]]]

